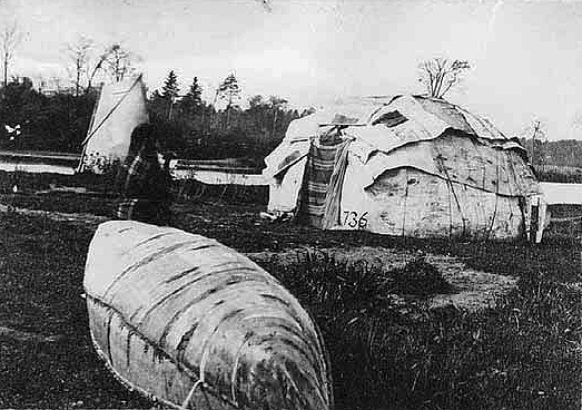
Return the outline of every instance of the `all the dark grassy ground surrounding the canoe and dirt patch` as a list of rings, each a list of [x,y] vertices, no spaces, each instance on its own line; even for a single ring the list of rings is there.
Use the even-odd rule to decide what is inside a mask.
[[[33,194],[48,180],[23,184],[17,196],[0,195],[2,204],[46,211],[0,214],[0,408],[150,408],[108,374],[89,340],[80,295],[95,223],[50,217],[55,211],[108,215],[111,199],[99,193]],[[337,409],[580,408],[576,224],[552,227],[541,245],[405,240],[270,223],[258,217],[260,203],[220,194],[176,204],[174,224],[240,252],[366,245],[450,254],[472,269],[519,277],[517,289],[495,309],[421,309],[411,316],[384,296],[415,293],[422,306],[436,291],[414,286],[423,277],[437,280],[417,260],[398,272],[401,282],[373,266],[325,258],[265,263],[324,333]]]

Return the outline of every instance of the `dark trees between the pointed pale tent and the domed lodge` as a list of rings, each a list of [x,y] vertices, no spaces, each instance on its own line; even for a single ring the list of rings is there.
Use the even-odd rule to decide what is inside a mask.
[[[241,108],[241,89],[228,75],[215,90],[214,100],[201,98],[198,77],[180,96],[179,79],[169,71],[164,86],[148,99],[151,121],[165,135],[166,148],[186,158],[247,157],[256,163],[285,136],[289,123],[312,110],[292,109],[278,96],[255,95]],[[217,108],[220,105],[224,108]]]

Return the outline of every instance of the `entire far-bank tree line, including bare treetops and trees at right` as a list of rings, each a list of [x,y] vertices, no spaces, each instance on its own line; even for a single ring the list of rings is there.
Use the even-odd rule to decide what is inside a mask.
[[[120,45],[107,47],[97,58],[89,57],[89,45],[87,40],[71,47],[72,87],[47,92],[27,77],[12,77],[6,85],[0,84],[1,149],[80,153],[98,97],[96,79],[116,81],[134,75],[137,58]],[[460,72],[467,69],[465,61],[425,61],[420,66],[420,82],[427,95],[443,98],[458,82]],[[170,70],[164,86],[147,99],[150,119],[164,136],[164,149],[180,158],[247,157],[262,164],[265,155],[280,143],[288,124],[312,111],[290,109],[288,101],[278,96],[259,95],[250,97],[241,108],[241,89],[233,74],[213,90],[211,101],[203,99],[198,77],[191,77],[185,94],[180,82]],[[11,139],[4,125],[20,125],[22,134]],[[521,141],[536,168],[582,167],[582,141],[548,141],[539,121],[526,134],[533,137]]]

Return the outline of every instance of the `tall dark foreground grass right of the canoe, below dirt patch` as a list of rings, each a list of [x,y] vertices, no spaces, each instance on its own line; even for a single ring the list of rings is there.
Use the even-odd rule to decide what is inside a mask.
[[[411,319],[391,309],[373,273],[272,272],[323,329],[338,408],[579,406],[581,295],[563,284],[523,277],[495,310]]]

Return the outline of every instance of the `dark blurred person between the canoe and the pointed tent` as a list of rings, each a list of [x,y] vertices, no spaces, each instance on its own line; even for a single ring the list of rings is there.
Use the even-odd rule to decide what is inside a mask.
[[[116,178],[117,219],[135,219],[155,225],[170,222],[170,187],[167,167],[158,159],[158,136],[150,124],[131,133],[129,153]]]

